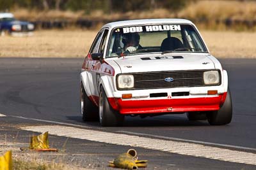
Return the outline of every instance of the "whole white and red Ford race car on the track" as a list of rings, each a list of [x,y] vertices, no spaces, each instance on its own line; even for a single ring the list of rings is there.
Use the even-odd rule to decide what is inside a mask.
[[[81,114],[102,126],[125,116],[186,113],[189,120],[229,124],[228,75],[196,26],[184,19],[104,25],[80,74]]]

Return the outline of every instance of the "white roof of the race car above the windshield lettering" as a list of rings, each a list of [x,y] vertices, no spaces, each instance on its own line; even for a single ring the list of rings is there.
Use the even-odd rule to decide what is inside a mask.
[[[144,24],[193,24],[190,20],[178,18],[161,18],[161,19],[142,19],[142,20],[124,20],[118,22],[110,22],[103,27],[125,27],[128,25],[144,25]],[[193,24],[194,25],[194,24]]]

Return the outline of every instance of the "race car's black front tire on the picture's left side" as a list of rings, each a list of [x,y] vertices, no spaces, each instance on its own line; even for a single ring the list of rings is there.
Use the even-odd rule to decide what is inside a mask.
[[[113,110],[103,87],[100,87],[99,95],[99,119],[102,126],[120,126],[124,123],[124,115]]]

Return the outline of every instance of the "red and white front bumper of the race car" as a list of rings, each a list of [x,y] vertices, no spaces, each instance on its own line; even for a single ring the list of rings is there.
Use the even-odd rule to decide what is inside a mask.
[[[218,94],[207,95],[207,90],[218,89]],[[170,90],[170,89],[169,89]],[[173,91],[180,91],[172,89]],[[185,90],[185,89],[182,89]],[[145,113],[175,113],[187,111],[216,111],[224,103],[227,92],[221,87],[207,87],[207,89],[190,89],[189,96],[173,97],[149,97],[147,90],[132,93],[133,98],[122,99],[122,97],[108,97],[109,104],[114,110],[121,114],[145,114]],[[157,90],[164,92],[165,90]],[[168,93],[170,94],[170,93]],[[140,97],[138,97],[140,96]]]

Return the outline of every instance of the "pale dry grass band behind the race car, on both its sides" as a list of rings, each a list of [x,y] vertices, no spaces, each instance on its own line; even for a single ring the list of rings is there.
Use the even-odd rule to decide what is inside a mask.
[[[201,31],[219,58],[256,58],[256,32]],[[85,57],[97,31],[36,31],[34,36],[0,37],[0,57]]]

